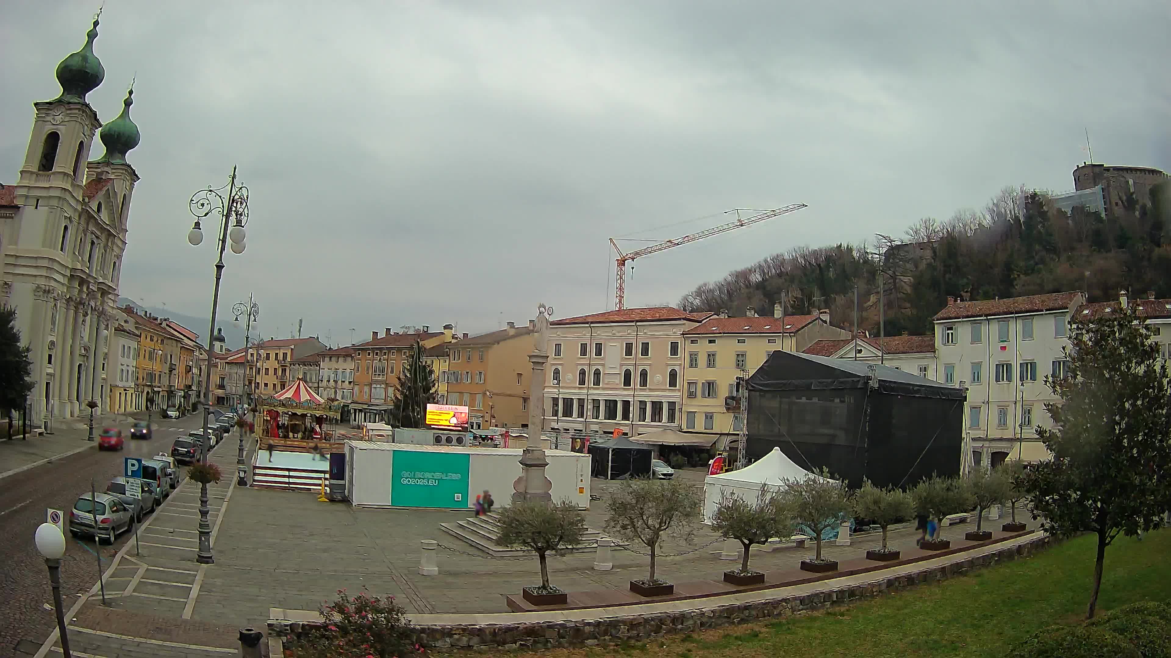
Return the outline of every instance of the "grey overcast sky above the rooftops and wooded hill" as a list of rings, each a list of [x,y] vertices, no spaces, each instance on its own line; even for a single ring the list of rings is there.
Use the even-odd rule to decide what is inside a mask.
[[[97,5],[5,2],[0,181]],[[89,101],[112,121],[137,75],[123,295],[206,316],[187,200],[237,164],[252,220],[220,313],[252,292],[263,335],[303,317],[344,344],[604,310],[608,238],[733,207],[809,205],[636,261],[628,306],[1004,185],[1066,191],[1086,130],[1098,162],[1169,170],[1169,26],[1165,0],[107,0]]]

